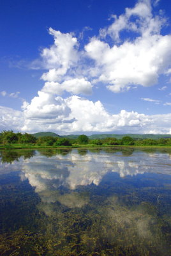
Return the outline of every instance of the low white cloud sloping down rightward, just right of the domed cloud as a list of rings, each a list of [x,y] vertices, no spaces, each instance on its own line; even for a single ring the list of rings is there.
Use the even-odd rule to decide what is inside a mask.
[[[82,99],[78,96],[72,96],[66,99],[66,103],[70,106],[70,118],[75,117],[76,120],[71,125],[72,131],[119,131],[122,127],[137,127],[145,125],[148,118],[143,114],[136,112],[126,112],[122,110],[117,115],[110,115],[100,100],[92,102]],[[142,124],[144,120],[144,124]],[[84,128],[83,128],[84,127]]]

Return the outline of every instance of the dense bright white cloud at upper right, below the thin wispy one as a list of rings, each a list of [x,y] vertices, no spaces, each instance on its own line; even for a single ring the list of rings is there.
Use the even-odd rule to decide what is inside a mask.
[[[113,47],[93,38],[85,51],[98,68],[95,81],[108,84],[112,92],[122,92],[133,85],[157,84],[170,61],[170,44],[171,36],[160,35],[139,37]]]

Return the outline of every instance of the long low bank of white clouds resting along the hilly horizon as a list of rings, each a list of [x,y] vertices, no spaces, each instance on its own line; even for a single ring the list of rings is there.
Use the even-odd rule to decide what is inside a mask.
[[[168,102],[167,102],[168,103]],[[72,132],[114,132],[114,133],[171,133],[171,113],[144,115],[134,111],[121,110],[111,115],[98,100],[71,96],[67,99],[50,93],[39,92],[24,114],[1,107],[0,128],[15,131],[55,131],[58,134]]]

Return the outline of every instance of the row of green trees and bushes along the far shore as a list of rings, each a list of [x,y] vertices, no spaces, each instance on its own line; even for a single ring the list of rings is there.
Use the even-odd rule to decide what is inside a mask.
[[[116,138],[104,138],[104,139],[95,139],[90,140],[86,135],[82,134],[78,136],[77,139],[70,138],[59,138],[53,136],[42,136],[36,138],[33,134],[13,131],[3,131],[0,134],[0,144],[1,145],[11,145],[11,144],[25,144],[25,145],[38,145],[38,146],[71,146],[71,145],[101,145],[101,146],[110,146],[110,145],[128,145],[128,146],[151,146],[151,145],[170,145],[171,138],[160,138],[158,140],[154,139],[135,139],[130,136],[124,136],[122,139]]]

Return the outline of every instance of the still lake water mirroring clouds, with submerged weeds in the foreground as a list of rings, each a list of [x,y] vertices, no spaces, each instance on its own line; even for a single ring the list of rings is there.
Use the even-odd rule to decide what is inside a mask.
[[[171,150],[1,150],[0,160],[1,255],[171,255]]]

